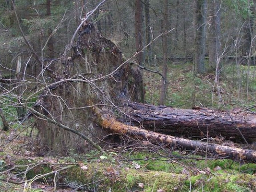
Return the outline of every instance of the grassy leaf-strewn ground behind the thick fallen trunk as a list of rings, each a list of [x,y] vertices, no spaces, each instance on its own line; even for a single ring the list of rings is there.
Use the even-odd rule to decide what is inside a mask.
[[[177,108],[203,105],[204,107],[223,109],[215,84],[215,71],[194,76],[192,65],[192,63],[168,65],[168,92],[165,105]],[[250,66],[248,94],[247,69],[248,67],[243,65],[226,64],[221,70],[219,89],[221,98],[228,108],[233,108],[234,104],[248,106],[256,102],[256,69],[255,66]],[[144,76],[145,102],[158,104],[161,76],[148,71],[144,72]]]

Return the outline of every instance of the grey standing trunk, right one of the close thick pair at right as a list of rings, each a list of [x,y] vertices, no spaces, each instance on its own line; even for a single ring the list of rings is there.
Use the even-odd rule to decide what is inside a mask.
[[[214,0],[209,6],[210,12],[210,43],[209,43],[209,63],[212,69],[216,69],[217,65],[220,64],[218,59],[220,59],[221,54],[221,31],[220,31],[220,0]],[[219,68],[221,66],[218,66]]]

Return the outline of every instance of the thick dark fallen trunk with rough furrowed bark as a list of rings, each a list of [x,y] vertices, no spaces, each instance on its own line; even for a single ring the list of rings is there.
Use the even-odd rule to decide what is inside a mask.
[[[256,115],[247,112],[233,112],[229,116],[226,112],[211,109],[177,109],[141,103],[130,103],[129,106],[134,118],[131,122],[143,125],[147,130],[173,136],[256,141]]]

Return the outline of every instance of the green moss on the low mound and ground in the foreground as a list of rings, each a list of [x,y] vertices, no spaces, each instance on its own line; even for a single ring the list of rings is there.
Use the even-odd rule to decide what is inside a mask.
[[[150,154],[146,152],[134,153],[129,156],[131,159],[150,158]],[[164,191],[188,191],[191,187],[192,191],[248,191],[255,189],[255,176],[250,174],[241,174],[237,170],[238,163],[231,160],[184,160],[187,163],[193,162],[194,167],[205,169],[210,168],[209,172],[204,171],[201,174],[187,176],[184,174],[174,174],[174,168],[183,170],[181,166],[175,164],[172,166],[165,158],[160,160],[149,159],[147,161],[136,160],[141,165],[140,169],[133,167],[130,164],[123,164],[122,168],[119,165],[113,165],[108,162],[91,162],[88,170],[83,171],[80,167],[66,170],[60,175],[63,175],[65,183],[76,183],[78,186],[86,183],[92,183],[87,187],[87,190],[97,189],[97,191],[108,191],[111,188],[112,192],[122,191],[145,191],[156,192],[159,189]],[[221,167],[215,171],[214,168]],[[126,167],[126,168],[125,168]],[[241,170],[252,170],[255,164],[243,165]],[[156,171],[163,170],[163,171]],[[99,181],[99,182],[95,182]],[[142,189],[138,184],[143,183]]]

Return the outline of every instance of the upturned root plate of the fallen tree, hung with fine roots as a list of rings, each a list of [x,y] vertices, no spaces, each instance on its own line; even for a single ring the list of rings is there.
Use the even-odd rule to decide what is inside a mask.
[[[95,142],[104,133],[93,126],[85,101],[112,106],[122,104],[121,98],[129,96],[141,102],[142,74],[137,66],[125,64],[117,45],[104,38],[94,23],[87,21],[79,29],[76,45],[67,54],[70,57],[55,63],[56,78],[52,78],[34,108]],[[69,149],[82,152],[90,148],[79,136],[52,122],[39,118],[36,127],[42,146],[40,155],[45,151],[66,155]]]

